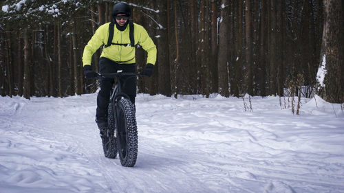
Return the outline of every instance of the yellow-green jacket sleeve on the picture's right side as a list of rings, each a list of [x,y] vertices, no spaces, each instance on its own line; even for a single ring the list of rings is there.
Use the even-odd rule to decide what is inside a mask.
[[[147,64],[155,65],[156,62],[156,46],[153,43],[151,37],[149,37],[144,27],[140,26],[140,39],[138,44],[142,46],[144,50],[147,52]]]

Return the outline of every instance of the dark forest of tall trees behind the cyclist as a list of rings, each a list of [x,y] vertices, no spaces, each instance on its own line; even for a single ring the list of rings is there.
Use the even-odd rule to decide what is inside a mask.
[[[0,94],[65,97],[93,93],[81,56],[120,1],[0,2]],[[321,95],[344,102],[341,0],[126,1],[158,49],[138,93],[174,96]],[[102,47],[94,54],[98,71]],[[137,70],[146,53],[136,49]],[[321,78],[322,77],[322,78]]]

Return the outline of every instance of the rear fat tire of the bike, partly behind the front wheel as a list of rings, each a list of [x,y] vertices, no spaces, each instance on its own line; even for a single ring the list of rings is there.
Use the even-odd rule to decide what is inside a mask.
[[[117,147],[117,140],[114,135],[115,131],[115,120],[114,120],[114,111],[112,110],[111,103],[109,104],[109,107],[107,109],[108,115],[107,115],[107,122],[109,124],[109,129],[106,131],[107,133],[104,134],[103,142],[103,150],[104,155],[107,158],[115,159],[118,152]]]

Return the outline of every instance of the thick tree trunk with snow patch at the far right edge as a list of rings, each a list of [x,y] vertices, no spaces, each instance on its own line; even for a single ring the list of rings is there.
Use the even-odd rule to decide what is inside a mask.
[[[327,71],[323,82],[323,92],[319,94],[327,102],[344,101],[344,37],[343,37],[343,1],[324,0],[325,21],[323,26],[323,43],[321,45],[321,63]],[[318,71],[318,73],[320,73]]]

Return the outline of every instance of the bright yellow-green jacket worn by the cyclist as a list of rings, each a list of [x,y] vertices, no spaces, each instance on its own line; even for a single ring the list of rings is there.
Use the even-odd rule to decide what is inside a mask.
[[[100,25],[100,27],[98,27],[98,29],[96,30],[96,33],[94,33],[91,40],[85,46],[83,53],[83,66],[91,65],[92,55],[94,54],[94,52],[96,52],[101,45],[107,44],[107,40],[109,38],[109,24],[110,23],[105,23],[103,25]],[[135,45],[139,44],[144,50],[146,50],[147,64],[151,63],[152,65],[155,65],[155,44],[149,37],[147,31],[144,30],[144,27],[136,23],[133,23],[133,25],[133,38],[135,41]],[[116,25],[114,25],[114,38],[112,39],[112,43],[130,43],[129,25],[127,25],[127,28],[124,31],[118,30]],[[103,52],[100,57],[109,58],[110,60],[113,60],[119,64],[136,63],[135,47],[131,46],[111,45],[109,47],[103,47]]]

